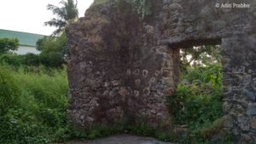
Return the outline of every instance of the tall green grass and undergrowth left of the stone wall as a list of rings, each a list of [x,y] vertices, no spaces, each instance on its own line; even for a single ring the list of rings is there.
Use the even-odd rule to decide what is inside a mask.
[[[35,69],[1,66],[0,143],[41,144],[71,136],[65,70]]]

